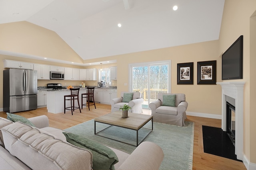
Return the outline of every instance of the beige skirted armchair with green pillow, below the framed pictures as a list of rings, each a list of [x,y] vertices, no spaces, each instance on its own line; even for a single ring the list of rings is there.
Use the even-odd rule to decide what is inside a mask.
[[[158,93],[157,99],[149,104],[153,121],[185,126],[188,107],[185,94]]]

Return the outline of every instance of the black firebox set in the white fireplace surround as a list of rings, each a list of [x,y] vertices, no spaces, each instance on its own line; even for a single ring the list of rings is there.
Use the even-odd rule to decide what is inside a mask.
[[[236,131],[236,122],[235,122],[235,116],[236,116],[236,109],[235,106],[230,104],[229,102],[226,102],[226,132],[232,141],[233,145],[235,146],[235,131]]]

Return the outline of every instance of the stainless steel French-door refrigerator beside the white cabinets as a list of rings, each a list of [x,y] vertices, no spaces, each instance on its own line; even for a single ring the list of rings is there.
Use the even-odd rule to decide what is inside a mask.
[[[4,70],[3,110],[26,111],[37,108],[37,71],[10,68]]]

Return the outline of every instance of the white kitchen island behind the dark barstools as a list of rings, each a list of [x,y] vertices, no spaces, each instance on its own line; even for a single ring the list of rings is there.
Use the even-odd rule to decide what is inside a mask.
[[[47,92],[47,110],[48,110],[48,112],[64,113],[64,96],[70,95],[70,90],[68,90],[68,89],[46,90],[46,92]],[[81,109],[82,109],[82,95],[81,94],[86,93],[86,92],[87,92],[87,88],[80,88],[80,90],[79,90],[79,104],[80,104]],[[86,101],[87,99],[84,98],[83,100]],[[78,104],[76,101],[75,101],[75,106],[78,107]],[[66,107],[70,107],[70,102],[66,101]]]

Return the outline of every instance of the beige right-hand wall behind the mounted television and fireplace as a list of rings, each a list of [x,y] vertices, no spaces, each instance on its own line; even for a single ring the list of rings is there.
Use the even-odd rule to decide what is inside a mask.
[[[254,120],[256,120],[254,113],[256,78],[253,74],[256,63],[256,27],[255,17],[252,19],[251,16],[255,10],[255,0],[225,0],[219,37],[220,53],[224,53],[240,35],[244,35],[243,79],[228,81],[246,82],[244,87],[244,154],[253,163],[256,163],[256,147],[254,146],[256,133],[253,130],[256,129],[256,124],[254,123]]]

